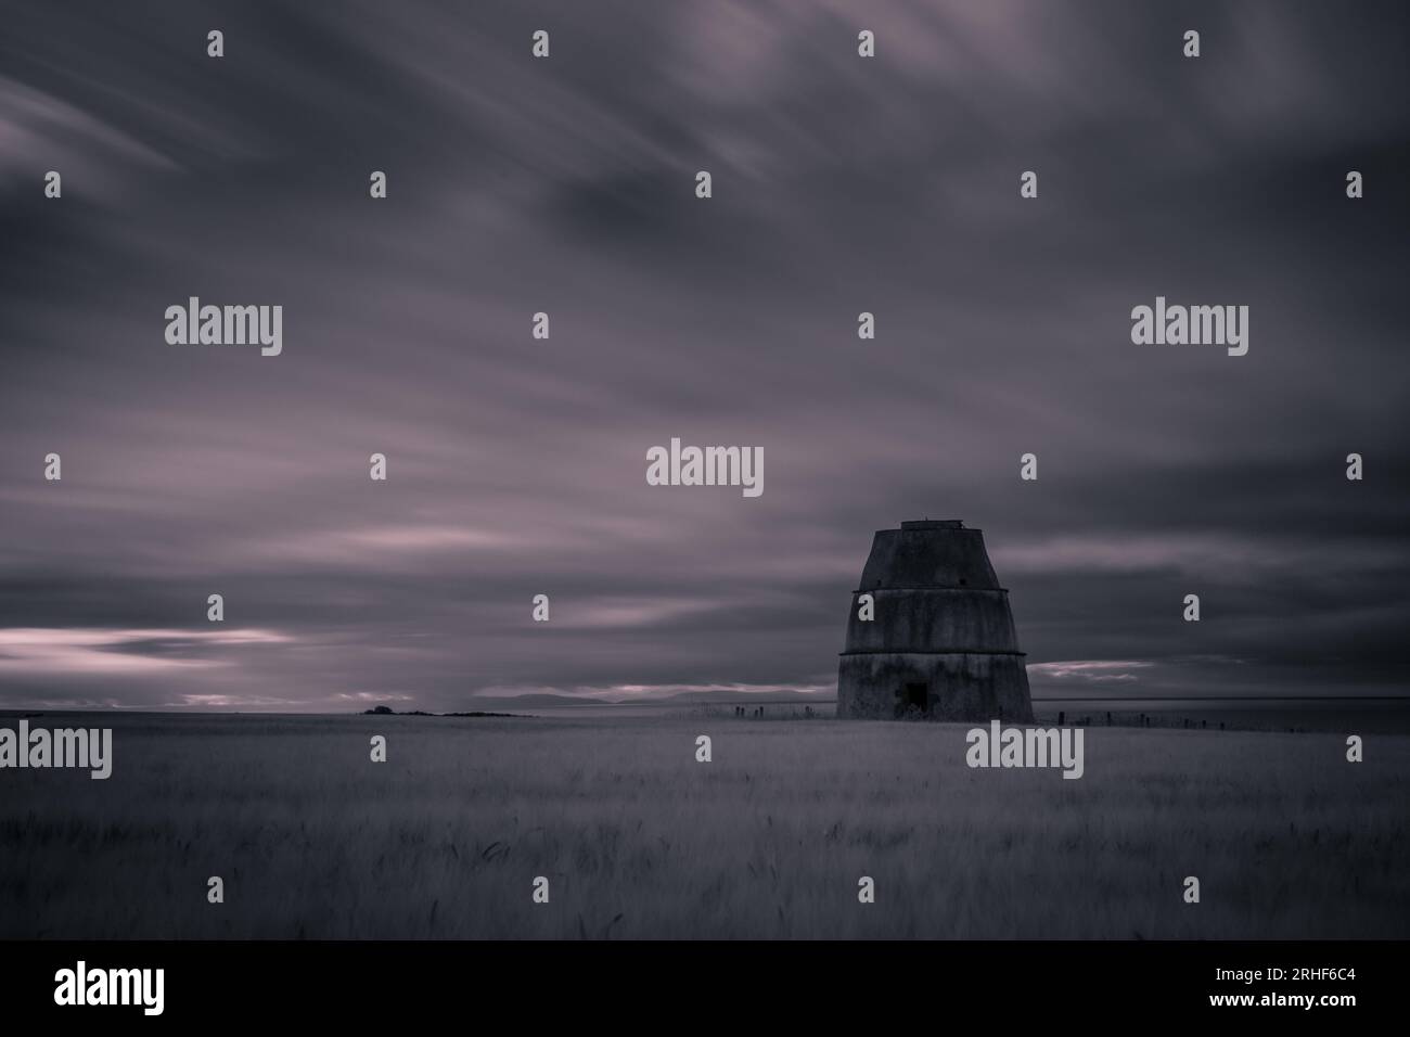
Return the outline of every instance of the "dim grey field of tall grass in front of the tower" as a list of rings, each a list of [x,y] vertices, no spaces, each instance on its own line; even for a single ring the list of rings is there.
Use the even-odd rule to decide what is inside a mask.
[[[0,772],[0,937],[1410,935],[1406,736],[1093,728],[1063,780],[959,725],[31,722],[80,721],[111,779]]]

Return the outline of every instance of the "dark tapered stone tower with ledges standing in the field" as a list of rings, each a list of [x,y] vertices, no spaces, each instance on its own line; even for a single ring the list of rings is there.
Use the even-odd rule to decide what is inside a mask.
[[[863,594],[874,618],[862,619]],[[1032,722],[1008,591],[963,522],[881,529],[852,598],[838,715]]]

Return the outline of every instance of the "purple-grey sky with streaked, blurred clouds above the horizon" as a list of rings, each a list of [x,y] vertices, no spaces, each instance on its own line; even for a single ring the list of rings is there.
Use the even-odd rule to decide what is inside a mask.
[[[1403,693],[1407,27],[3,3],[0,705],[830,691],[922,516],[984,530],[1035,694]],[[168,344],[192,295],[282,305],[282,356]],[[1158,295],[1248,305],[1248,356],[1132,344]],[[673,436],[763,495],[649,487]]]

